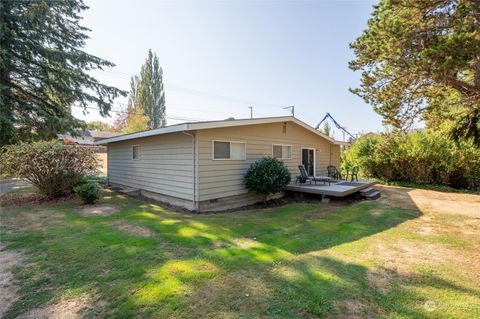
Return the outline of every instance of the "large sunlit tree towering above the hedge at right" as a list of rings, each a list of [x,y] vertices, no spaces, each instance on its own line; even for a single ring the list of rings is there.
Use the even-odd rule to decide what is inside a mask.
[[[350,68],[362,71],[352,91],[386,124],[447,117],[457,121],[457,137],[480,141],[479,1],[381,0],[351,47]]]

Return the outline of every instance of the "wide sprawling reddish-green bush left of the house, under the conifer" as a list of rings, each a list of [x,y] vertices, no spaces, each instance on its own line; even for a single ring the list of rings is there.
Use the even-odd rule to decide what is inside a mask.
[[[1,163],[3,172],[30,181],[49,198],[71,194],[98,167],[92,150],[57,141],[5,146]]]

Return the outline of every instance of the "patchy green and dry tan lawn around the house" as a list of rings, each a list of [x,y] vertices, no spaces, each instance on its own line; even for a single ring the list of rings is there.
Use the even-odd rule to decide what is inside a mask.
[[[2,253],[21,256],[4,317],[478,318],[480,196],[401,196],[203,215],[114,192],[109,216],[3,207]]]

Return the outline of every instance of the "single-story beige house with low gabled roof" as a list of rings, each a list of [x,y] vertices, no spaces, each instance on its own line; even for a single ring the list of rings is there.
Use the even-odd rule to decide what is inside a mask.
[[[194,211],[255,203],[243,176],[255,160],[281,159],[292,178],[340,165],[340,144],[295,117],[194,122],[116,136],[108,146],[108,182]]]

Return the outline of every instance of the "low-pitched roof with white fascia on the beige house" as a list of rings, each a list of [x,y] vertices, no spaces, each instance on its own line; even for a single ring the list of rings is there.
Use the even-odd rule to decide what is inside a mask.
[[[111,138],[107,138],[107,139],[95,142],[95,145],[102,145],[102,144],[126,141],[126,140],[141,138],[141,137],[155,136],[155,135],[161,135],[161,134],[167,134],[167,133],[195,131],[195,130],[204,130],[204,129],[212,129],[212,128],[222,128],[222,127],[235,127],[235,126],[243,126],[243,125],[279,123],[279,122],[293,122],[329,140],[334,144],[344,144],[344,142],[340,142],[332,139],[331,137],[321,133],[320,131],[316,130],[312,126],[308,125],[305,122],[300,121],[299,119],[293,116],[279,116],[279,117],[264,117],[264,118],[256,118],[256,119],[238,119],[238,120],[228,119],[228,120],[221,120],[221,121],[187,122],[187,123],[169,125],[169,126],[148,130],[148,131],[119,135],[119,136],[115,136],[115,137],[111,137]]]

